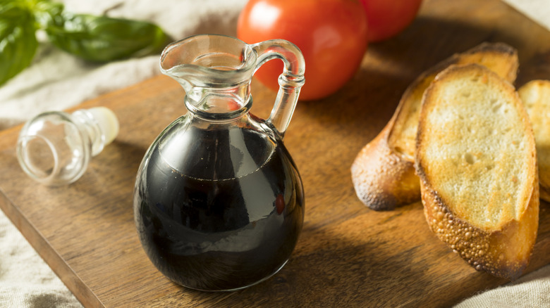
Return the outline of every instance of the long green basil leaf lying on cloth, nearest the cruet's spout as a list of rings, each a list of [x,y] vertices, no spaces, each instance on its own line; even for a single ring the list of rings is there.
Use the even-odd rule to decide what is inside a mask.
[[[169,40],[152,23],[87,14],[61,13],[46,32],[59,49],[96,62],[157,53]]]

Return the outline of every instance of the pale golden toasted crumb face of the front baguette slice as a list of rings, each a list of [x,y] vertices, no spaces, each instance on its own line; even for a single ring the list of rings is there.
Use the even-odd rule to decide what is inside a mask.
[[[426,114],[424,157],[432,186],[458,217],[501,229],[518,220],[532,188],[530,130],[512,86],[487,70],[451,78],[432,92]]]

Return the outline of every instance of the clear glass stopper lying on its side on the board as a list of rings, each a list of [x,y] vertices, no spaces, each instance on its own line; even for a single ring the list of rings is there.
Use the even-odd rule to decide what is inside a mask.
[[[25,123],[17,158],[26,174],[41,184],[61,186],[78,180],[90,158],[118,134],[116,115],[105,107],[49,111]]]

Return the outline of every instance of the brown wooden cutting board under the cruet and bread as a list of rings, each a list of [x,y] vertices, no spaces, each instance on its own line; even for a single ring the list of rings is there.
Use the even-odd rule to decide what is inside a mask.
[[[520,56],[517,85],[550,79],[550,32],[499,0],[426,0],[398,37],[371,44],[357,75],[337,94],[300,102],[286,146],[302,174],[306,218],[279,274],[234,293],[187,290],[164,278],[133,224],[133,184],[145,150],[185,113],[183,90],[154,77],[79,107],[118,115],[116,141],[75,184],[47,188],[20,170],[20,127],[0,132],[0,208],[86,307],[448,307],[506,283],[475,271],[428,229],[422,205],[374,212],[355,196],[350,165],[384,127],[423,70],[482,41]],[[266,117],[274,93],[254,82],[252,113]],[[528,271],[550,263],[550,213],[541,205]]]

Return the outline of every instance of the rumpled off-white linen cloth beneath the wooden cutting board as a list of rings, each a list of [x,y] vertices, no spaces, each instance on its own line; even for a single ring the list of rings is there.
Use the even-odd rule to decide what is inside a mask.
[[[550,29],[549,0],[505,0]],[[235,35],[246,0],[64,0],[73,12],[154,21],[174,38]],[[530,13],[531,12],[531,13]],[[60,65],[62,63],[62,65]],[[90,65],[47,44],[33,65],[0,87],[0,129],[45,110],[61,110],[157,75],[158,56]],[[0,307],[82,307],[0,211]],[[550,307],[550,266],[456,307]]]

